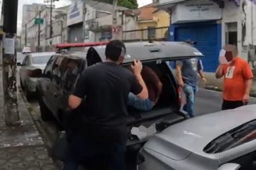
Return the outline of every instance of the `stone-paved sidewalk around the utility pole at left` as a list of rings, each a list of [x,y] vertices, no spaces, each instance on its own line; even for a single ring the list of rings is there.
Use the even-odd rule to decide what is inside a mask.
[[[2,78],[2,69],[0,69]],[[0,79],[0,169],[1,170],[56,170],[49,158],[42,137],[18,92],[19,127],[7,127],[3,106],[3,87]]]

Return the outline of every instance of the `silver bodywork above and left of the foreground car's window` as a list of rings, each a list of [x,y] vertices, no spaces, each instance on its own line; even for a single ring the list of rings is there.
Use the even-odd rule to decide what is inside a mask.
[[[256,105],[207,114],[172,125],[152,137],[144,148],[171,159],[182,160],[189,154],[212,157],[204,147],[221,134],[256,119]]]

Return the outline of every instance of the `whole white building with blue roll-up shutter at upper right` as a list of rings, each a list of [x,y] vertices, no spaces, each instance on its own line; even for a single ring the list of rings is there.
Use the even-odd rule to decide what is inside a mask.
[[[237,45],[240,56],[248,61],[254,58],[249,56],[255,55],[256,1],[159,0],[159,4],[172,11],[170,40],[197,41],[196,48],[205,55],[205,71],[216,70],[225,44]]]

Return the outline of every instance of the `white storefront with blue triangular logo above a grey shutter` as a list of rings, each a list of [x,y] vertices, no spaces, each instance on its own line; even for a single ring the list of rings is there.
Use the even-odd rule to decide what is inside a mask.
[[[81,1],[74,1],[69,6],[67,25],[68,42],[84,42]]]

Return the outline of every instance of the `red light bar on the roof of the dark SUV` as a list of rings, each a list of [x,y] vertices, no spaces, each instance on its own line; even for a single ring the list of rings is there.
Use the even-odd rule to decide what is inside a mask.
[[[81,43],[64,43],[64,44],[57,44],[57,49],[68,49],[68,48],[76,48],[76,47],[87,47],[87,46],[100,46],[100,45],[106,45],[108,44],[108,41],[102,41],[102,42],[81,42]]]

